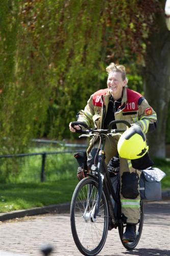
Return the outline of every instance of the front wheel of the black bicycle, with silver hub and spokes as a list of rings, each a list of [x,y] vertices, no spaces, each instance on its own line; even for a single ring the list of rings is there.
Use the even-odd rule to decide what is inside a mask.
[[[98,181],[87,177],[75,188],[71,200],[70,222],[75,244],[84,255],[97,255],[103,248],[108,232],[108,204],[104,190],[96,220],[92,220],[98,197]]]

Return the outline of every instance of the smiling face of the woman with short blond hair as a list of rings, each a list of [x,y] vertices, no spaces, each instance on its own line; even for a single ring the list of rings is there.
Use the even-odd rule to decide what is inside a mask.
[[[114,100],[122,97],[123,88],[126,86],[126,79],[123,81],[120,72],[110,72],[107,79],[107,87]]]

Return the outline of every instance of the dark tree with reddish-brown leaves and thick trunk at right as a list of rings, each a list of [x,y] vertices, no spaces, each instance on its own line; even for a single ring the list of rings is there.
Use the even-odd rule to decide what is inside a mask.
[[[144,96],[157,112],[157,130],[148,135],[150,153],[164,158],[170,100],[170,32],[165,23],[165,1],[136,1],[136,5],[137,8],[130,16],[126,12],[132,33],[125,28],[131,45],[126,43],[123,49],[125,51],[129,47],[130,54],[135,54],[143,80]]]

